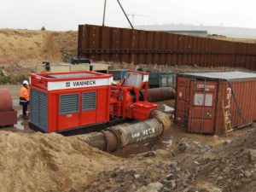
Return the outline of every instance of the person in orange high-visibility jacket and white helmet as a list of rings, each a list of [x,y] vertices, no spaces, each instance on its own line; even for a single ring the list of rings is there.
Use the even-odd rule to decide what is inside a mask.
[[[23,119],[28,119],[26,115],[27,106],[29,104],[30,89],[27,80],[23,81],[23,86],[20,89],[20,105],[22,106]]]

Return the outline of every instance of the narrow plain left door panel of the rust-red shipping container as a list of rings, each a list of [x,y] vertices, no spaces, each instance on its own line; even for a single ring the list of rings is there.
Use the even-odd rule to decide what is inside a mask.
[[[177,77],[175,122],[183,126],[188,125],[190,81],[189,78]]]

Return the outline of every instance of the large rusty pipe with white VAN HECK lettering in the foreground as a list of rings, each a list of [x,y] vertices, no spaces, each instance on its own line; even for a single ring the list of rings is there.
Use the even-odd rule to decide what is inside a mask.
[[[150,138],[160,137],[171,126],[171,119],[166,113],[154,110],[146,121],[113,126],[105,131],[79,136],[79,140],[91,147],[113,152],[132,143],[139,143]]]

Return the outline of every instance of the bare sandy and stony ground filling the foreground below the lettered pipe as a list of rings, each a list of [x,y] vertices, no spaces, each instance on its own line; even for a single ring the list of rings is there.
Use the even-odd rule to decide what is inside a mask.
[[[20,85],[8,87],[20,114],[16,97]],[[169,100],[158,104],[163,110],[164,104],[174,107],[174,103]],[[0,181],[4,183],[0,189],[255,192],[255,136],[254,127],[224,137],[191,134],[172,124],[158,139],[109,155],[71,137],[38,134],[19,117],[15,127],[0,131]]]

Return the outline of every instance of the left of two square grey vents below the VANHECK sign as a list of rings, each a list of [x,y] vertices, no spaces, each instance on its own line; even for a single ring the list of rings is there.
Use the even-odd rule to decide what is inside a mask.
[[[60,114],[79,113],[79,94],[60,96]]]

